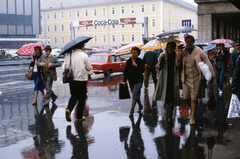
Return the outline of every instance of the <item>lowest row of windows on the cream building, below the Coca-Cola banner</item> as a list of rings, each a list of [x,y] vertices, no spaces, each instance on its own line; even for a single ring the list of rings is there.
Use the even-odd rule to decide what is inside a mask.
[[[156,34],[152,34],[152,37],[155,37],[156,36]],[[141,37],[142,37],[142,39],[144,38],[144,34],[141,34]],[[106,35],[103,35],[102,36],[102,43],[106,43],[107,42],[107,36]],[[125,35],[121,35],[121,37],[120,37],[121,39],[121,43],[125,43],[126,41],[125,41]],[[49,39],[49,38],[48,38]],[[71,40],[71,37],[69,37],[69,40],[68,40],[68,42]],[[131,42],[135,42],[135,35],[134,34],[132,34],[132,35],[130,35],[130,41]],[[97,43],[98,42],[98,36],[94,36],[93,37],[93,42],[94,43]],[[111,42],[112,43],[115,43],[116,42],[116,35],[111,35]],[[54,44],[57,44],[58,43],[58,39],[57,39],[57,37],[54,37]],[[65,43],[65,38],[64,37],[61,37],[61,44],[64,44]],[[50,41],[48,41],[48,44],[50,44]]]

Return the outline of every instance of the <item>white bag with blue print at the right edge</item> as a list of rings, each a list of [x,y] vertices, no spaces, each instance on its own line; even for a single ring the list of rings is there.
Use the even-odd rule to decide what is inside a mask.
[[[227,118],[239,118],[240,112],[240,101],[236,94],[232,94],[230,105],[228,108],[228,116]]]

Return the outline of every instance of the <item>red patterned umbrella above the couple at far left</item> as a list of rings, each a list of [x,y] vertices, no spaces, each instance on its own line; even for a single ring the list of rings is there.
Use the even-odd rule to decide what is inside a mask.
[[[40,46],[41,49],[44,49],[44,46],[42,44],[39,43],[29,43],[29,44],[25,44],[23,45],[18,51],[18,55],[32,55],[34,54],[34,47],[35,46]]]

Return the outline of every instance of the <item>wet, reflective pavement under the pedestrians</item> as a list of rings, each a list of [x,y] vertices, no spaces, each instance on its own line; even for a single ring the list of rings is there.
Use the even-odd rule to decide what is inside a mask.
[[[214,111],[199,101],[196,125],[190,126],[189,108],[184,101],[175,107],[173,124],[166,123],[162,102],[152,103],[153,83],[141,93],[144,113],[135,108],[129,119],[131,99],[118,99],[122,73],[111,77],[93,75],[88,84],[86,121],[65,120],[69,87],[61,83],[62,69],[53,90],[59,96],[50,108],[38,105],[33,81],[25,79],[27,66],[0,67],[0,154],[3,158],[90,158],[90,159],[237,159],[240,158],[239,119],[227,119],[230,83],[217,97]],[[2,158],[2,157],[1,157]]]

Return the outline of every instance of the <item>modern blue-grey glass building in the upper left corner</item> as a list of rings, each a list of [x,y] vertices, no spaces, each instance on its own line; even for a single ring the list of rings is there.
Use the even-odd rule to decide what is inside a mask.
[[[30,42],[41,33],[40,26],[40,0],[0,1],[1,48],[19,48]]]

